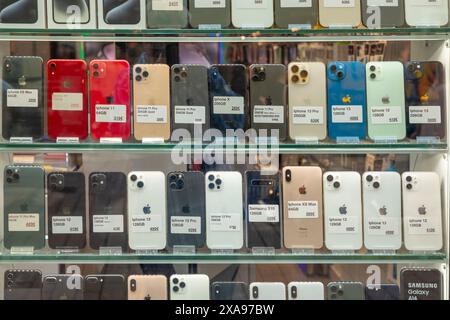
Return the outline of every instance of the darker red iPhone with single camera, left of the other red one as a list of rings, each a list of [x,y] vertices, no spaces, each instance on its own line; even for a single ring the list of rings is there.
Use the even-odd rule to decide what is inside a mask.
[[[47,63],[48,135],[50,139],[88,136],[87,66],[83,60]]]

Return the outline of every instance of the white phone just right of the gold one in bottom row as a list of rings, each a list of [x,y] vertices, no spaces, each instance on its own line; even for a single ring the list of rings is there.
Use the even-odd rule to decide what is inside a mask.
[[[203,274],[170,277],[170,300],[209,300],[209,277]]]

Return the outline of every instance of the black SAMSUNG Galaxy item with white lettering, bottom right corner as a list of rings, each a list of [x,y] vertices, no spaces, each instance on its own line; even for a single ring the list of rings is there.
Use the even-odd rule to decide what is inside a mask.
[[[400,271],[401,300],[442,300],[442,273],[438,269],[403,268]]]

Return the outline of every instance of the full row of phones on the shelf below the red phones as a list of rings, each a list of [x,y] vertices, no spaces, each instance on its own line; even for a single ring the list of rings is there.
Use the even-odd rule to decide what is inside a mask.
[[[441,184],[434,172],[54,172],[47,176],[49,247],[163,250],[438,251]],[[245,187],[245,192],[243,191]],[[45,246],[44,171],[7,166],[5,248]],[[245,204],[244,204],[245,195]],[[245,215],[244,215],[245,213]],[[403,213],[403,216],[402,216]],[[245,223],[244,223],[245,220]],[[244,235],[244,229],[246,229]]]

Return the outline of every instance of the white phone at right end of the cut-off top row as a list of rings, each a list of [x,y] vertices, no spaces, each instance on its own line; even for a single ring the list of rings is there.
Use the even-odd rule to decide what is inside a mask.
[[[448,24],[448,1],[405,1],[406,23],[411,27],[440,27]]]

